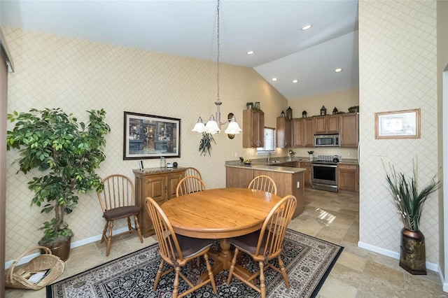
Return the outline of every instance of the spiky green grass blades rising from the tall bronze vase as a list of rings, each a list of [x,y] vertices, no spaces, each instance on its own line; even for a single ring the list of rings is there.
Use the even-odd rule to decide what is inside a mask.
[[[386,171],[386,181],[403,225],[411,231],[419,231],[423,204],[431,193],[439,189],[441,183],[440,181],[436,182],[434,176],[431,182],[419,192],[417,187],[418,169],[414,159],[412,159],[412,166],[414,169],[413,176],[407,178],[404,173],[397,173],[395,167],[389,163],[390,173]],[[386,169],[386,166],[384,166],[384,169]]]

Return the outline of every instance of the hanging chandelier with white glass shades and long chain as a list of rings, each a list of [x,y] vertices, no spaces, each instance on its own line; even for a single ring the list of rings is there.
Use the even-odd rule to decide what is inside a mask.
[[[221,112],[219,111],[219,108],[221,106],[221,104],[223,104],[221,102],[221,100],[219,99],[219,0],[218,0],[218,5],[216,6],[216,13],[217,13],[217,20],[218,20],[218,27],[217,27],[217,38],[216,40],[218,41],[218,58],[217,58],[217,73],[216,73],[216,85],[218,86],[218,99],[215,101],[216,104],[216,114],[215,115],[211,115],[209,121],[207,122],[206,125],[204,125],[204,123],[202,122],[202,118],[200,117],[197,120],[197,123],[195,125],[195,127],[193,127],[192,131],[193,132],[199,132],[199,133],[209,133],[209,134],[216,134],[221,132],[221,125],[225,125],[225,123],[229,122],[229,125],[227,127],[227,129],[225,129],[224,133],[228,134],[230,139],[233,139],[233,136],[235,136],[235,134],[239,134],[241,132],[241,128],[239,128],[238,122],[235,119],[235,115],[233,115],[233,113],[229,113],[228,115],[228,121],[227,122],[222,122],[221,123]],[[216,118],[215,118],[216,116]]]

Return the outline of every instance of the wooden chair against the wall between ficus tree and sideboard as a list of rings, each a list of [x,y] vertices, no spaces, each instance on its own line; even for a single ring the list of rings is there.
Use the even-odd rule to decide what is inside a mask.
[[[140,243],[143,243],[141,230],[139,226],[140,207],[135,205],[134,201],[134,183],[127,176],[121,174],[113,174],[102,180],[104,189],[97,192],[99,204],[103,212],[103,218],[106,220],[104,226],[101,243],[106,241],[106,257],[111,252],[111,240],[116,236],[126,233],[132,233],[136,230],[140,237]],[[131,217],[134,218],[134,225],[131,225]],[[113,235],[113,222],[127,218],[128,230]],[[108,233],[109,229],[109,233]]]

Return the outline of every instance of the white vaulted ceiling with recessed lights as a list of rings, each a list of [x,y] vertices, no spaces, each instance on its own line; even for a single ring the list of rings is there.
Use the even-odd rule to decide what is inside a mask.
[[[216,61],[216,7],[204,0],[2,0],[0,22]],[[312,27],[302,30],[306,24]],[[255,69],[287,99],[358,87],[358,1],[221,0],[220,62]]]

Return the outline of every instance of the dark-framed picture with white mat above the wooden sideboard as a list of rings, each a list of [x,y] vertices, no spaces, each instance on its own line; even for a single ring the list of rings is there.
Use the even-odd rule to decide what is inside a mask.
[[[125,112],[123,159],[181,157],[181,120]]]

